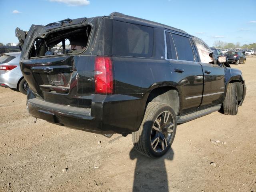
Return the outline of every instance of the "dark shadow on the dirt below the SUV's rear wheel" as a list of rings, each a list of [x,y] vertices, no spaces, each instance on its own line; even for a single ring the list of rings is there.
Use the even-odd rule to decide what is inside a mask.
[[[135,148],[130,151],[130,158],[137,159],[134,171],[133,192],[161,191],[168,192],[168,176],[164,160],[173,160],[172,148],[161,158],[147,158]]]

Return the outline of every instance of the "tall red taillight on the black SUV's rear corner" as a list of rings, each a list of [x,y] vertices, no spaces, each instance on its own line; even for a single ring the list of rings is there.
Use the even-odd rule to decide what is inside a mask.
[[[98,56],[95,59],[95,93],[113,94],[113,68],[110,57]]]

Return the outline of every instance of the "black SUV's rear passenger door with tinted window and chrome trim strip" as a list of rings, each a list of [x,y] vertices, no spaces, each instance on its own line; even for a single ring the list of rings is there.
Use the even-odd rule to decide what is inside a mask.
[[[202,101],[203,72],[189,36],[166,31],[166,59],[180,94],[180,114],[195,111]]]

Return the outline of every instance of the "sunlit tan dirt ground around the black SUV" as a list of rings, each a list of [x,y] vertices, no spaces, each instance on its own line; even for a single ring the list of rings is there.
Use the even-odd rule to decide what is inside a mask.
[[[178,125],[170,152],[154,160],[134,150],[131,135],[34,123],[26,96],[0,88],[0,191],[256,192],[256,56],[232,68],[247,86],[238,115]]]

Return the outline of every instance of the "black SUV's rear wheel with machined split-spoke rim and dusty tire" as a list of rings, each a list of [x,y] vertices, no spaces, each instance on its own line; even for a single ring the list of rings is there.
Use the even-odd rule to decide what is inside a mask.
[[[170,149],[176,127],[176,114],[170,105],[149,102],[139,130],[132,133],[134,148],[144,156],[161,157]]]

